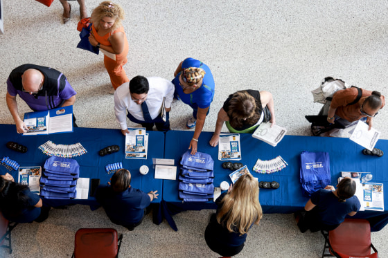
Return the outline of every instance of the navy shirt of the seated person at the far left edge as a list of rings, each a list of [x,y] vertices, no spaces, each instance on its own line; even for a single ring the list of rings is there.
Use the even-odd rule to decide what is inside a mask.
[[[28,196],[27,207],[18,216],[9,216],[6,211],[3,211],[3,216],[8,221],[28,223],[34,221],[40,215],[40,208],[34,207],[40,200],[39,196],[30,192],[29,189],[23,191],[23,193]]]

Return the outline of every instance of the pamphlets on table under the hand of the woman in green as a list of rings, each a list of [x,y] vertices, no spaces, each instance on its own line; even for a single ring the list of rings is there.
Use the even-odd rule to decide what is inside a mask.
[[[218,160],[240,160],[240,134],[222,133],[218,140]]]

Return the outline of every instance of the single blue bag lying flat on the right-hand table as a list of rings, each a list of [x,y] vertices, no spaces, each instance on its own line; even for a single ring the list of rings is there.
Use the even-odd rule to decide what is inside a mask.
[[[330,184],[328,152],[303,151],[301,153],[300,181],[303,195],[308,197]]]

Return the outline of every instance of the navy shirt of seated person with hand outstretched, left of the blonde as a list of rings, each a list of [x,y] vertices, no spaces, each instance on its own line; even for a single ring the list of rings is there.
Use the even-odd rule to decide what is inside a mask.
[[[110,185],[99,185],[96,200],[103,205],[109,219],[119,225],[138,223],[144,216],[144,208],[151,203],[145,192],[128,188],[124,192],[114,192]]]

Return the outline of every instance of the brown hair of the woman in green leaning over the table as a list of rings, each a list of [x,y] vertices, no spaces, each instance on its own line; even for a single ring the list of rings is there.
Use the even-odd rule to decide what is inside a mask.
[[[233,128],[243,127],[244,122],[254,125],[261,116],[258,102],[247,91],[237,91],[229,95],[229,123]],[[245,119],[245,120],[244,120]]]

